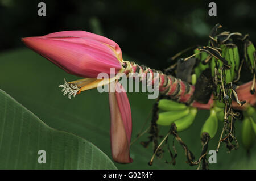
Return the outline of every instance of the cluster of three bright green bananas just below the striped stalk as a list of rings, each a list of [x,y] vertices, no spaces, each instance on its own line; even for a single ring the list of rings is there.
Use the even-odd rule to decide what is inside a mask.
[[[169,126],[175,123],[177,132],[184,131],[191,127],[197,114],[197,108],[189,107],[185,104],[168,99],[160,99],[158,108],[162,112],[158,114],[156,123],[163,126]]]

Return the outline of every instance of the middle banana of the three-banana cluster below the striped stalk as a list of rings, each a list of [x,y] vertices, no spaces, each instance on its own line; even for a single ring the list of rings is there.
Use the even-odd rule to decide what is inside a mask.
[[[162,112],[158,114],[158,120],[156,120],[156,124],[162,126],[168,126],[174,123],[177,119],[184,117],[189,114],[189,108],[184,110],[177,110],[177,111],[168,111]]]

